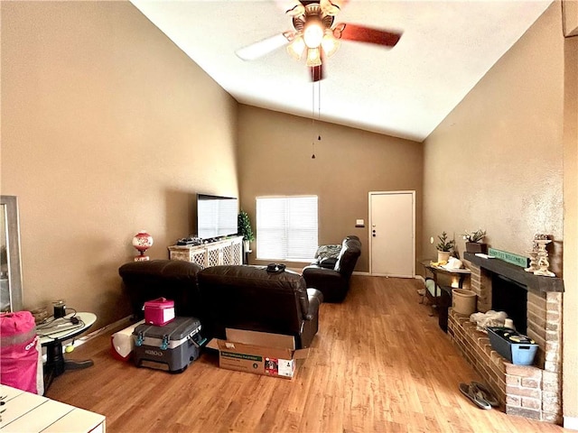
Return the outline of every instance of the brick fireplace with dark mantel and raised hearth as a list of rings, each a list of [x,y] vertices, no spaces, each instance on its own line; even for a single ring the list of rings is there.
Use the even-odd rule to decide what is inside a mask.
[[[451,309],[448,334],[453,343],[487,382],[506,413],[561,424],[562,279],[536,276],[498,259],[471,253],[464,256],[479,311],[496,309],[492,304],[492,280],[496,281],[496,276],[526,288],[526,334],[536,341],[538,350],[533,365],[510,364],[492,350],[488,336],[478,331],[469,317]]]

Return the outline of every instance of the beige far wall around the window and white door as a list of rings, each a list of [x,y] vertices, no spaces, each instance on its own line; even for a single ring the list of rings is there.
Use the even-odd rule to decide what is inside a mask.
[[[318,132],[322,141],[315,140],[313,160]],[[238,145],[241,205],[253,222],[257,196],[317,195],[319,243],[359,235],[356,271],[368,272],[368,192],[415,190],[420,250],[422,144],[336,124],[313,127],[310,119],[241,105]],[[366,227],[356,228],[356,219]]]

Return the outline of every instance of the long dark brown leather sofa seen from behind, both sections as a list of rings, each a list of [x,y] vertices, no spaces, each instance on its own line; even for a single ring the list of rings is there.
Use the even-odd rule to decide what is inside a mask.
[[[268,273],[263,266],[214,266],[204,270],[177,260],[123,264],[123,279],[136,318],[144,302],[174,300],[177,316],[200,319],[203,336],[225,338],[225,327],[295,336],[309,347],[319,327],[319,290],[295,272]]]

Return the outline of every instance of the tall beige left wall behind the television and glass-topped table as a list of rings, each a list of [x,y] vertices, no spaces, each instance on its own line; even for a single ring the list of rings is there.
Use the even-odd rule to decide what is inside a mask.
[[[26,308],[129,313],[117,269],[238,194],[237,103],[127,2],[2,2],[2,194],[20,202]]]

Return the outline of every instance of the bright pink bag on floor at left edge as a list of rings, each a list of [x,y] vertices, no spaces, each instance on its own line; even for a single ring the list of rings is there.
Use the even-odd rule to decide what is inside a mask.
[[[42,348],[30,311],[0,313],[0,382],[42,394]]]

